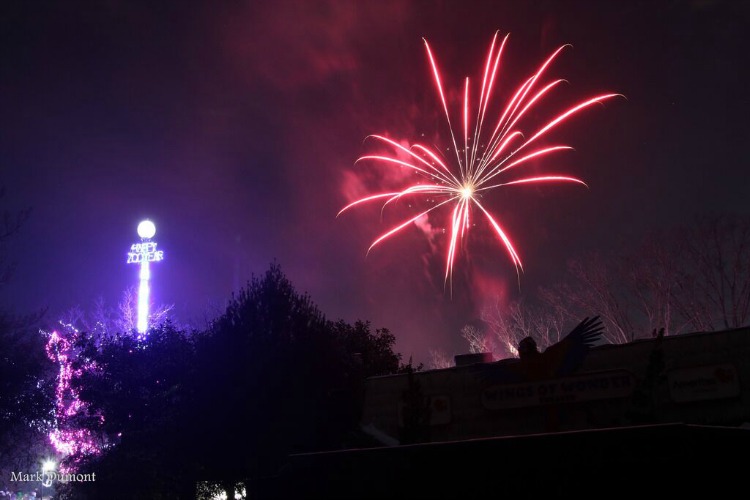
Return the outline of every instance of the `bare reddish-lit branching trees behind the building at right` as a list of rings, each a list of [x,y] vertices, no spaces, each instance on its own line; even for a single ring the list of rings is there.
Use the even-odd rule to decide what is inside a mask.
[[[612,344],[750,324],[750,217],[696,216],[614,251],[569,260],[559,282],[482,311],[499,357],[519,336],[554,342],[563,322],[601,316]],[[528,333],[525,333],[528,332]],[[470,339],[467,339],[470,340]],[[470,340],[471,345],[471,340]]]

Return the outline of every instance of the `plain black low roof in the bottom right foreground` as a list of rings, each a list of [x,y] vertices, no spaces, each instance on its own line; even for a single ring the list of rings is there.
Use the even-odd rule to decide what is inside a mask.
[[[747,429],[631,426],[293,455],[250,485],[266,500],[716,498],[746,491],[748,445]]]

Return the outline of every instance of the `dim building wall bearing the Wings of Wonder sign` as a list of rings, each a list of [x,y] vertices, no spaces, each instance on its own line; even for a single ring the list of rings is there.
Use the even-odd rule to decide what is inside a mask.
[[[646,423],[750,422],[750,328],[603,345],[593,348],[569,377],[492,381],[493,371],[514,362],[415,373],[414,383],[430,406],[423,440]],[[407,375],[368,379],[363,428],[400,439],[406,404],[402,394],[408,387]]]

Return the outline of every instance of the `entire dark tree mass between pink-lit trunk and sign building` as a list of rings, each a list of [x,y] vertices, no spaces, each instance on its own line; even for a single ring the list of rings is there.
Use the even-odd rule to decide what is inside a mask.
[[[79,470],[69,498],[192,498],[275,474],[290,453],[356,445],[362,383],[403,369],[395,337],[332,322],[276,264],[253,277],[204,332],[169,323],[146,340],[120,335],[80,352],[90,422],[109,443]],[[86,422],[81,422],[86,425]]]

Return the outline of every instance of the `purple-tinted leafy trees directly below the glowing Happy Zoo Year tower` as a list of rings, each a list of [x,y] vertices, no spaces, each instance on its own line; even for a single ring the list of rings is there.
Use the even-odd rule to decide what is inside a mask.
[[[71,482],[69,498],[163,498],[195,495],[195,457],[187,381],[195,366],[191,335],[166,322],[139,338],[103,341],[81,335],[81,359],[94,362],[75,380],[87,412],[76,422],[101,436],[101,453],[71,456],[94,482]],[[101,416],[103,418],[91,418]]]

